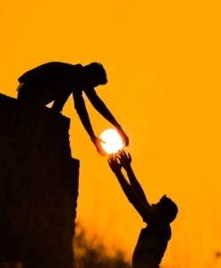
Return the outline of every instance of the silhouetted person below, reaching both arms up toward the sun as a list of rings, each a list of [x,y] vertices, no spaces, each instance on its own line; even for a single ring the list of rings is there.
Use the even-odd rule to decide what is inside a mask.
[[[132,268],[158,268],[165,254],[168,241],[171,239],[170,223],[178,212],[174,202],[163,196],[157,204],[150,205],[139,181],[132,171],[132,157],[123,150],[108,159],[110,168],[115,173],[123,192],[147,223],[140,231],[140,237],[132,255]],[[128,182],[122,167],[129,178]]]

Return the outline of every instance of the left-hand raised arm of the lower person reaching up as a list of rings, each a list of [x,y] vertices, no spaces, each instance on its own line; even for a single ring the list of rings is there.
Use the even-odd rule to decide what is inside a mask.
[[[142,202],[140,197],[134,191],[132,186],[124,178],[123,173],[121,172],[122,164],[117,162],[116,155],[110,155],[108,163],[112,171],[115,173],[117,180],[119,181],[125,196],[128,198],[130,203],[134,206],[137,212],[143,219],[149,219],[151,217],[151,212],[149,206]]]

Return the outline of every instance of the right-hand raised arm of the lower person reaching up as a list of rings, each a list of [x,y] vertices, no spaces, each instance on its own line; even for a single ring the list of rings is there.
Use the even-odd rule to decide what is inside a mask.
[[[119,151],[117,155],[118,155],[119,162],[122,164],[123,168],[127,172],[127,176],[128,176],[128,179],[130,180],[133,190],[137,193],[137,195],[140,197],[140,200],[144,204],[150,206],[147,200],[147,197],[145,196],[145,193],[140,186],[140,182],[137,180],[132,170],[132,165],[131,165],[132,156],[130,154],[127,155],[123,150]]]

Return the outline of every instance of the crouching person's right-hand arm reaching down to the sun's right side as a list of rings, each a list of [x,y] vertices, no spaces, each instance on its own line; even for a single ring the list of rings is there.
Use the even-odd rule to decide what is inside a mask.
[[[95,107],[95,109],[100,113],[107,121],[112,123],[119,135],[122,137],[125,146],[127,147],[129,144],[129,138],[124,133],[120,124],[115,120],[113,114],[107,109],[104,102],[99,98],[94,88],[88,88],[85,90],[85,94],[88,96],[90,103]]]

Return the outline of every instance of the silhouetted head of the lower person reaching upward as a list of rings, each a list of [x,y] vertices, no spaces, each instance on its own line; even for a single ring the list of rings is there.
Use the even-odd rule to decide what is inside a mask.
[[[178,213],[178,207],[175,205],[174,201],[164,195],[160,198],[157,206],[167,223],[174,221],[176,214]]]

